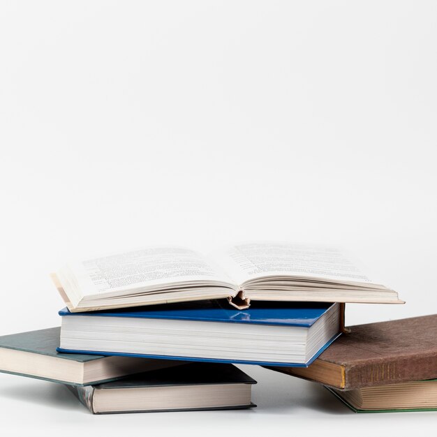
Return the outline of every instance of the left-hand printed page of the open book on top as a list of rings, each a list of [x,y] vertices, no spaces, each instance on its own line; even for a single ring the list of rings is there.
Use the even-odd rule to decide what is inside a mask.
[[[228,285],[228,279],[203,255],[180,247],[139,249],[72,262],[57,275],[70,298],[71,288],[80,290],[82,296],[116,296],[135,290],[168,290],[181,284]]]

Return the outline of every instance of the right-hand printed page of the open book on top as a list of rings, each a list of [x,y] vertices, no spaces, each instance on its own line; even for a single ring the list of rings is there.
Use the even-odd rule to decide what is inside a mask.
[[[341,251],[326,247],[251,243],[216,251],[212,256],[239,286],[255,279],[284,276],[363,286],[372,283]]]

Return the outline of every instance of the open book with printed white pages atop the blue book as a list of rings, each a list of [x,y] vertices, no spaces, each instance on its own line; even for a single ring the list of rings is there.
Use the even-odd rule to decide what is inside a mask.
[[[403,303],[368,279],[337,249],[295,244],[239,244],[208,257],[154,247],[71,262],[52,276],[71,312],[227,298]]]

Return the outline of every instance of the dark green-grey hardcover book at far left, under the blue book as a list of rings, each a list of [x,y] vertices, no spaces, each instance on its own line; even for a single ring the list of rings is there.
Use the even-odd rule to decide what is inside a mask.
[[[89,385],[181,363],[58,353],[60,327],[0,336],[0,371],[57,383]]]

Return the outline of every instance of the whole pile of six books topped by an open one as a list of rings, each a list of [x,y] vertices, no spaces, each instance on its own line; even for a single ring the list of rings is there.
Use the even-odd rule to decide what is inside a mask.
[[[235,364],[323,383],[356,411],[437,408],[436,317],[348,332],[346,303],[403,302],[336,249],[156,247],[52,279],[61,327],[1,336],[0,371],[63,383],[92,413],[251,408]]]

